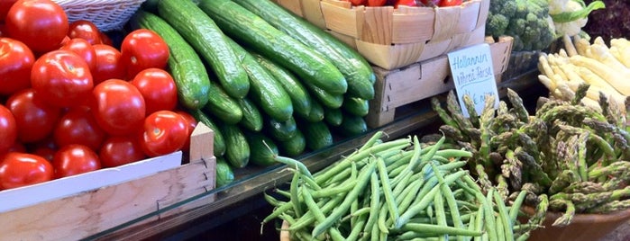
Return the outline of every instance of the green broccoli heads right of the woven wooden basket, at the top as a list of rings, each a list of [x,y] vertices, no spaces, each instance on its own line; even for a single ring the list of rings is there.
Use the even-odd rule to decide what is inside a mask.
[[[515,37],[515,51],[542,50],[556,39],[548,20],[549,5],[543,0],[490,1],[486,35]]]

